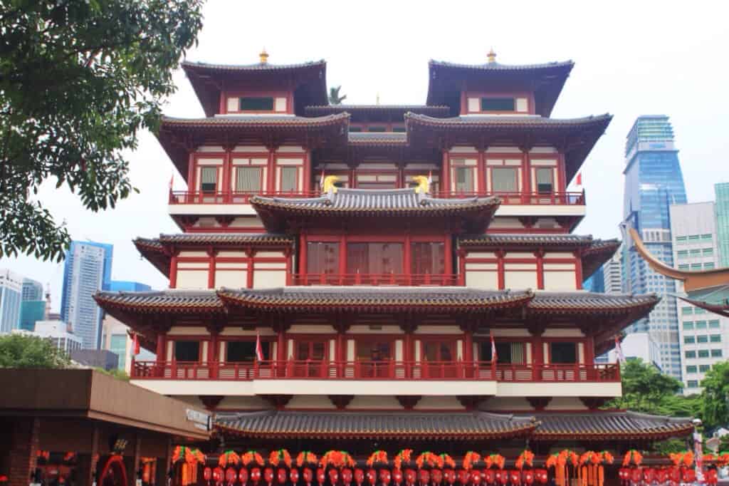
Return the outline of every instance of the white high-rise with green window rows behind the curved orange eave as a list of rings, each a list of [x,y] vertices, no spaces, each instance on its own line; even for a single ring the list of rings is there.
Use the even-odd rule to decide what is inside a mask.
[[[680,270],[711,270],[719,265],[717,211],[713,202],[671,206],[674,262]],[[677,292],[682,283],[677,281]],[[678,301],[684,393],[701,391],[701,380],[714,363],[729,356],[729,318]]]

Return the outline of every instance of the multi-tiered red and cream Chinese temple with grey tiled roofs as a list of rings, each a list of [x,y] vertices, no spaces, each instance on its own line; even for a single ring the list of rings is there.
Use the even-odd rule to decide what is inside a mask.
[[[387,454],[378,484],[428,464],[423,485],[531,484],[452,474],[472,452],[543,467],[693,432],[601,409],[620,368],[595,357],[658,298],[582,290],[619,242],[572,233],[586,199],[566,188],[611,115],[550,117],[571,61],[431,61],[424,105],[331,105],[324,61],[182,67],[206,116],[163,117],[157,135],[187,182],[168,201],[180,232],[134,240],[169,290],[95,299],[156,352],[134,385],[214,413],[201,450],[233,472],[200,484],[257,483],[251,450],[269,486],[361,486]],[[271,452],[304,451],[326,477],[265,472]]]

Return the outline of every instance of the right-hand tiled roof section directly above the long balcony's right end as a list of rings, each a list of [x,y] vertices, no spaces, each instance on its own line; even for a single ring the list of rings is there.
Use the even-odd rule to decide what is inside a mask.
[[[544,292],[534,294],[527,308],[531,313],[559,314],[590,312],[616,312],[639,307],[652,308],[660,298],[655,293],[628,295],[592,292]]]

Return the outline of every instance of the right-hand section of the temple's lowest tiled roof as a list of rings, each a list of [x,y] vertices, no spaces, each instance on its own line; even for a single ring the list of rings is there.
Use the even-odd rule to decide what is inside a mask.
[[[637,412],[585,413],[548,412],[535,414],[539,427],[532,436],[551,439],[667,439],[693,431],[690,418],[672,418]]]

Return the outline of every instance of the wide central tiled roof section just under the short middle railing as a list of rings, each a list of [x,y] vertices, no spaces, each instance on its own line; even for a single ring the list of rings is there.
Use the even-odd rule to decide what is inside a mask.
[[[222,288],[219,296],[233,306],[257,309],[316,309],[327,311],[356,308],[367,312],[392,312],[407,306],[418,312],[486,312],[522,306],[532,297],[529,290],[474,290],[469,288],[403,287],[286,287],[268,290]]]

